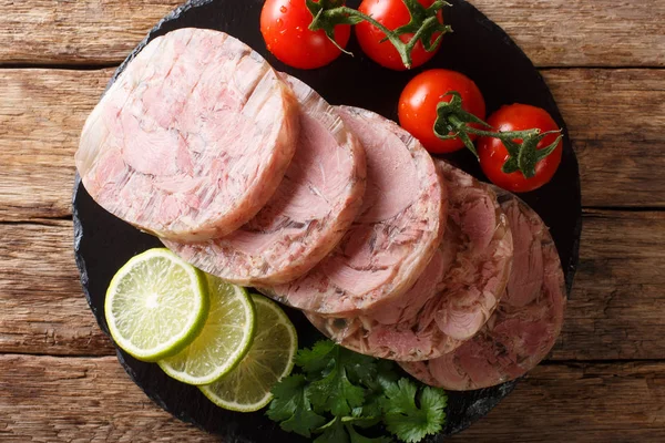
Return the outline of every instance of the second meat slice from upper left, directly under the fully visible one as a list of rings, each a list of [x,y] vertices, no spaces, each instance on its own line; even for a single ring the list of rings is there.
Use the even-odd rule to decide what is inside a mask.
[[[360,142],[315,91],[285,78],[300,103],[300,135],[275,195],[228,236],[197,244],[163,240],[194,266],[238,285],[279,285],[301,277],[339,243],[362,204]]]

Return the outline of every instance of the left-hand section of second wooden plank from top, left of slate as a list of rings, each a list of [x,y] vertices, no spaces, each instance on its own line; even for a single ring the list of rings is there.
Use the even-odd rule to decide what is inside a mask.
[[[0,70],[0,219],[71,215],[73,155],[112,70]]]

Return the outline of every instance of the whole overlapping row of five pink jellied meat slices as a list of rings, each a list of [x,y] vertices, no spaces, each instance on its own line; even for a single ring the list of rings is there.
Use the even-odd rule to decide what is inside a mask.
[[[561,266],[531,209],[224,33],[147,44],[90,115],[76,167],[193,265],[427,383],[519,377],[561,329]]]

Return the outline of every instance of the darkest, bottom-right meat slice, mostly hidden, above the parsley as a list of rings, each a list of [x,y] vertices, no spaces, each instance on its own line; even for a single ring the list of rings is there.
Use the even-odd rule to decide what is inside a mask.
[[[402,364],[428,384],[464,391],[514,380],[545,358],[561,332],[565,287],[554,241],[522,200],[505,192],[500,199],[515,245],[508,288],[472,340],[441,358]]]

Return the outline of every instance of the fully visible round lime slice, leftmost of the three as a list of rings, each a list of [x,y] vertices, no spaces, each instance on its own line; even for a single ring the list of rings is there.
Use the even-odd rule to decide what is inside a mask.
[[[115,343],[139,360],[156,361],[177,353],[203,328],[205,276],[168,249],[150,249],[115,274],[104,309]]]

